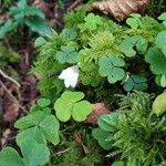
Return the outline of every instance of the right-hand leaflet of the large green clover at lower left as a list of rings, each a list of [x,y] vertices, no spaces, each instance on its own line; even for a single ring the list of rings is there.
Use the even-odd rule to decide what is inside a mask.
[[[60,142],[59,129],[60,123],[54,115],[48,115],[41,123],[40,127],[43,131],[45,139],[58,145]]]

